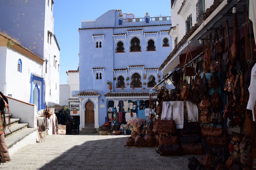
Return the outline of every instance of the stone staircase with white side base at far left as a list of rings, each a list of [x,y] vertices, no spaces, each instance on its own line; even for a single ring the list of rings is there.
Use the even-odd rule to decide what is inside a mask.
[[[5,114],[5,116],[7,122],[9,114]],[[37,128],[29,128],[28,123],[19,123],[19,121],[19,118],[10,117],[11,132],[6,127],[5,141],[10,155],[28,144],[34,144],[36,142],[36,135],[38,135]]]

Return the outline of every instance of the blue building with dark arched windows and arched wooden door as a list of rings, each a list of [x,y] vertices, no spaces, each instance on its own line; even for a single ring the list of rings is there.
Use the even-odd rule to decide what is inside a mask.
[[[171,17],[150,17],[146,13],[144,18],[134,18],[134,14],[114,9],[95,21],[82,21],[80,130],[86,124],[95,128],[104,124],[107,112],[112,111],[109,100],[149,100],[154,91],[150,89],[163,77],[158,67],[172,52],[170,27]],[[112,89],[106,82],[112,83]],[[137,117],[145,117],[144,109],[138,110]]]

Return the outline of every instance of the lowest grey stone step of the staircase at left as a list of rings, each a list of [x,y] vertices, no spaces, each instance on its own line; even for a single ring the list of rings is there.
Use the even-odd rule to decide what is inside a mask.
[[[19,133],[15,133],[12,136],[8,136],[5,138],[6,145],[9,148],[11,148],[15,143],[21,141],[29,134],[37,131],[37,128],[26,128],[24,130],[19,131]],[[36,141],[34,141],[36,142]]]

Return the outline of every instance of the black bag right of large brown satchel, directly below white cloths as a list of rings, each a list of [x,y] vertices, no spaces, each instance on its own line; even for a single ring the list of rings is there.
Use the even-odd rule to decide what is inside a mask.
[[[181,130],[180,134],[193,135],[193,134],[199,134],[199,132],[200,132],[199,123],[188,120],[187,122],[184,122],[183,129]]]

